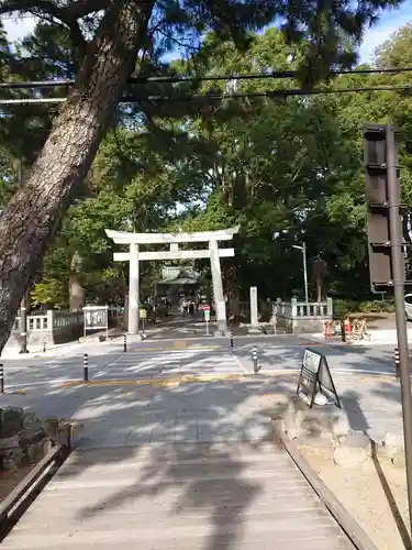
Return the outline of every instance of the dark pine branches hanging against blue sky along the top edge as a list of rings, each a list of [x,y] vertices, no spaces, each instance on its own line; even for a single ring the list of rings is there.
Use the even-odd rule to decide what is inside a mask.
[[[282,4],[272,0],[185,0],[179,3],[169,0],[165,3],[164,21],[176,37],[180,38],[189,30],[198,35],[212,30],[215,44],[232,38],[244,53],[250,46],[250,30],[269,26],[280,19],[286,42],[300,45],[297,61],[301,80],[309,85],[324,78],[333,66],[352,66],[364,30],[376,22],[381,9],[400,3],[398,0],[367,3],[297,0]],[[213,47],[205,55],[211,56],[211,53],[214,53]]]

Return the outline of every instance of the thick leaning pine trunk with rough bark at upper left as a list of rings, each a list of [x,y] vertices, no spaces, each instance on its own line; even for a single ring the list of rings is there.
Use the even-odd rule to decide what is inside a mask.
[[[0,352],[29,282],[113,121],[153,3],[116,0],[107,10],[24,187],[0,218]]]

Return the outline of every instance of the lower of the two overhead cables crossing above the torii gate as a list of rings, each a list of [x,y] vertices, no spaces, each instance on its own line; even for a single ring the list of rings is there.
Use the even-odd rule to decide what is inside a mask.
[[[179,95],[179,96],[124,96],[119,100],[120,103],[146,103],[146,102],[159,102],[159,101],[201,101],[201,100],[212,100],[220,101],[223,99],[241,99],[241,98],[287,98],[293,96],[323,96],[331,94],[355,94],[355,92],[371,92],[371,91],[411,91],[412,85],[398,85],[398,86],[368,86],[368,87],[356,87],[356,88],[337,88],[327,89],[320,88],[313,90],[303,90],[299,88],[285,89],[285,90],[266,90],[266,91],[255,91],[255,92],[234,92],[234,94],[200,94],[194,96]],[[0,105],[26,105],[26,103],[62,103],[66,101],[67,98],[23,98],[23,99],[0,99]]]

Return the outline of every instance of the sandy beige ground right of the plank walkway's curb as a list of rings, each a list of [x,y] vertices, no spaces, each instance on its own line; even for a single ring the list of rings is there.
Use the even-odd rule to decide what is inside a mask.
[[[403,468],[370,459],[359,469],[346,470],[334,464],[329,447],[302,444],[299,449],[379,550],[411,548],[407,538],[409,513]]]

